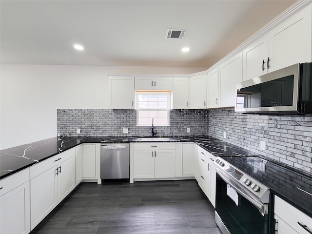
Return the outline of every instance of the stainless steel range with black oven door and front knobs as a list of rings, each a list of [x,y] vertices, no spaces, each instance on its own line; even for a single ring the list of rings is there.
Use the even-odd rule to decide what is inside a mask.
[[[215,222],[223,234],[268,234],[270,189],[256,180],[256,176],[247,175],[244,158],[215,159]]]

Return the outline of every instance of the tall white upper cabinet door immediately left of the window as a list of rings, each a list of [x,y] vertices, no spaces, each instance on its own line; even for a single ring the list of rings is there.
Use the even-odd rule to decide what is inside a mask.
[[[110,108],[134,109],[135,78],[109,77]]]

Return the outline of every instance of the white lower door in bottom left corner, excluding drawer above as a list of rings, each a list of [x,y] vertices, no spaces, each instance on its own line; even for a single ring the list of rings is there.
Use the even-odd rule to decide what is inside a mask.
[[[0,233],[30,232],[29,181],[0,196]]]

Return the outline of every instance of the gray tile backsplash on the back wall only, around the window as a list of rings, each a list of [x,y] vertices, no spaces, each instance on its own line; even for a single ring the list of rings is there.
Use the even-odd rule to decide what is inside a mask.
[[[58,109],[61,136],[150,136],[151,126],[136,126],[136,110]],[[191,129],[186,133],[186,128]],[[76,133],[80,128],[81,134]],[[122,129],[128,128],[128,134]],[[158,136],[208,135],[208,110],[171,110],[170,126],[154,127]]]

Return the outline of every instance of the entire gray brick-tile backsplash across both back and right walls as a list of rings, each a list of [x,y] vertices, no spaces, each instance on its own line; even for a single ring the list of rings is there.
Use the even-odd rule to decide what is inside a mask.
[[[58,109],[62,136],[150,136],[151,127],[136,126],[136,110]],[[190,127],[191,133],[186,133]],[[122,133],[128,128],[128,134]],[[160,136],[209,135],[312,173],[312,117],[259,116],[234,112],[234,108],[171,110],[170,126],[155,127]],[[227,138],[224,138],[224,132]],[[260,150],[260,141],[266,150]]]

